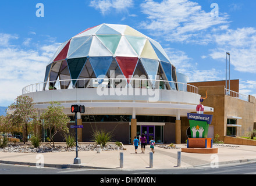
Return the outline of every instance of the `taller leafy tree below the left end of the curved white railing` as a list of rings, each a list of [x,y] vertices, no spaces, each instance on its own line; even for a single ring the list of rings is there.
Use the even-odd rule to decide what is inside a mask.
[[[27,142],[27,127],[33,120],[37,120],[37,109],[33,106],[33,99],[29,96],[17,96],[8,110],[11,113],[7,116],[13,127],[22,127],[24,144]]]

